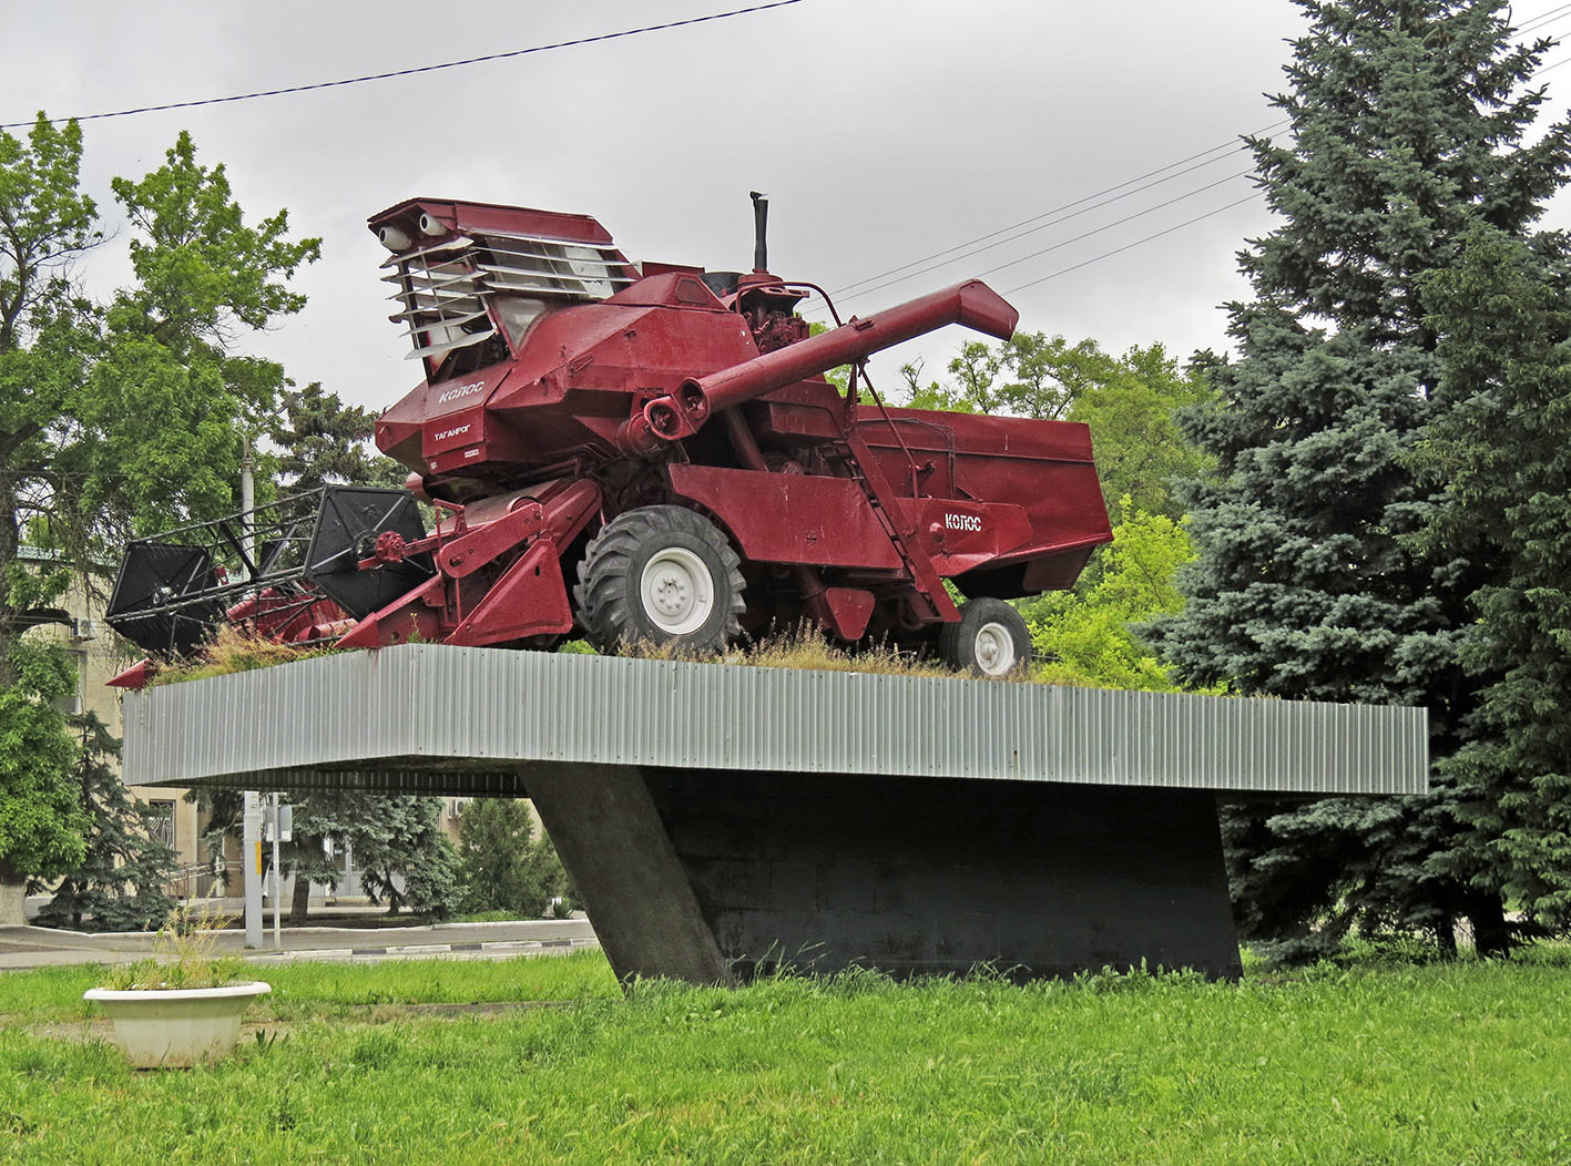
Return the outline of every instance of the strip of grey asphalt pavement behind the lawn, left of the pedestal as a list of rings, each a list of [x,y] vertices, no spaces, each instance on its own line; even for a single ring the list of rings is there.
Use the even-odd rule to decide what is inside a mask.
[[[269,922],[272,916],[269,916]],[[68,932],[53,927],[0,927],[0,971],[69,963],[132,963],[154,952],[154,932]],[[240,930],[218,932],[215,948],[255,963],[330,960],[363,963],[388,959],[511,959],[562,955],[595,948],[588,919],[518,919],[512,922],[435,922],[418,927],[284,927],[273,943],[245,948]]]

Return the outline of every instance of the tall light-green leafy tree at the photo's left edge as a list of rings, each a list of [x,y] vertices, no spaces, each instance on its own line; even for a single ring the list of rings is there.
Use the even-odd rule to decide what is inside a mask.
[[[64,614],[69,572],[55,567],[101,591],[130,533],[233,509],[242,431],[283,383],[236,347],[300,308],[289,278],[317,253],[289,240],[284,212],[248,225],[223,167],[201,165],[182,134],[145,179],[113,182],[135,278],[97,306],[74,283],[101,240],[80,163],[74,123],[0,130],[0,693],[13,702],[0,882],[13,888],[79,861],[83,825],[75,743],[46,707],[69,665],[22,635]],[[50,569],[24,563],[24,541]]]

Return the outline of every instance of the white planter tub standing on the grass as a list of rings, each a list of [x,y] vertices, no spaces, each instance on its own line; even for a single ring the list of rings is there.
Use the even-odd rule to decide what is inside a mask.
[[[269,984],[225,984],[220,988],[88,988],[115,1021],[115,1040],[137,1069],[182,1069],[226,1056],[240,1039],[240,1017]]]

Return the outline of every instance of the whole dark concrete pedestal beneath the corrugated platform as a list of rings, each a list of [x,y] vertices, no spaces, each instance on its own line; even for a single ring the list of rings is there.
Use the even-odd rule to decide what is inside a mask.
[[[1208,792],[633,767],[528,781],[621,976],[1240,973]]]

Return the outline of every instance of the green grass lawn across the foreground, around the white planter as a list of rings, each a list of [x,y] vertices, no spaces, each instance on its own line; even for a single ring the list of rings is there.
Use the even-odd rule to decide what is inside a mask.
[[[583,988],[572,1007],[331,1015],[509,976],[534,992],[550,965]],[[14,977],[6,999],[63,990]],[[8,1025],[0,1161],[1571,1161],[1563,951],[1236,985],[657,982],[625,1001],[588,957],[269,977],[297,1009],[287,1036],[192,1072]]]

